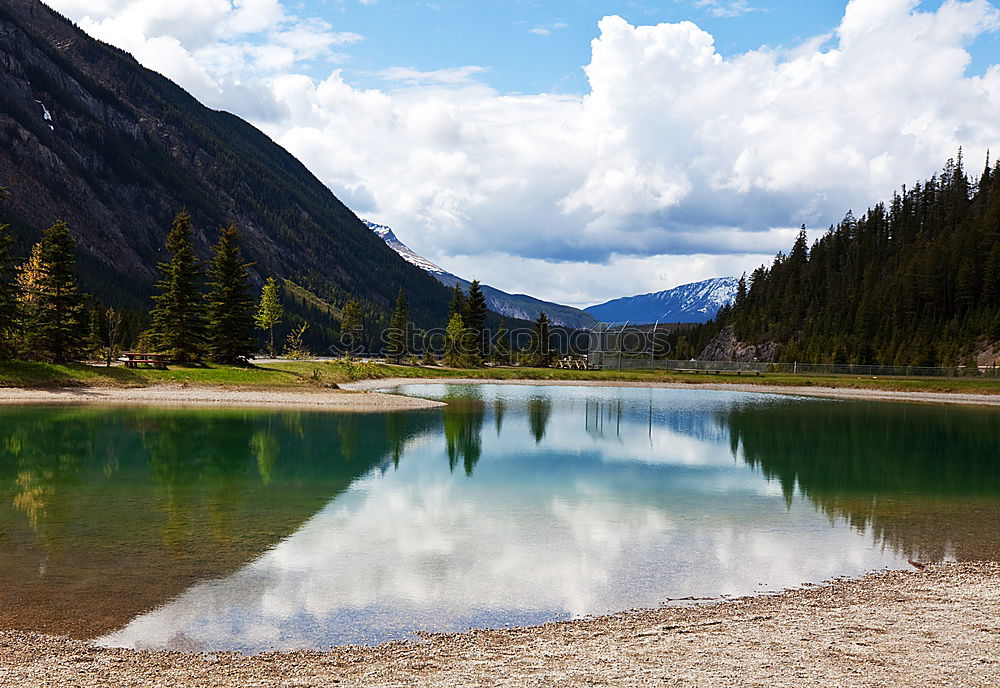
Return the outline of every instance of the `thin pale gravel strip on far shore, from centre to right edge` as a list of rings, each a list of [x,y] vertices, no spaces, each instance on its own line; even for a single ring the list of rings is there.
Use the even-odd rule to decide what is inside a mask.
[[[711,382],[632,382],[605,380],[489,380],[483,378],[387,378],[362,380],[341,385],[342,389],[371,392],[399,385],[419,384],[484,384],[537,385],[544,387],[641,387],[661,389],[709,389],[730,392],[756,392],[788,396],[822,397],[827,399],[857,399],[867,401],[909,401],[929,404],[964,404],[968,406],[1000,406],[1000,394],[966,394],[962,392],[900,392],[848,387],[798,387],[787,385],[755,385]]]

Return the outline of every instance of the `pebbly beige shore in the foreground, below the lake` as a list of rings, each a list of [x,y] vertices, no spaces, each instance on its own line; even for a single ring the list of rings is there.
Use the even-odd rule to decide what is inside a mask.
[[[0,632],[0,685],[995,686],[1000,564],[329,652],[187,655]]]

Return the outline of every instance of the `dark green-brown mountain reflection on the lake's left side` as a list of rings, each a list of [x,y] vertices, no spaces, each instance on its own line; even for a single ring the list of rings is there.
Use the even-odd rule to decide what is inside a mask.
[[[408,414],[399,435],[419,436],[435,420]],[[383,422],[4,409],[0,624],[91,637],[236,570],[389,460]],[[338,431],[349,441],[331,442]]]

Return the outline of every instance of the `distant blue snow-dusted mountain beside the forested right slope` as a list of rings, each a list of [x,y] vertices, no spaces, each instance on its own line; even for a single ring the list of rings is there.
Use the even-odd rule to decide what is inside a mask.
[[[584,310],[607,323],[703,323],[735,300],[737,284],[735,277],[716,277],[655,294],[626,296]]]

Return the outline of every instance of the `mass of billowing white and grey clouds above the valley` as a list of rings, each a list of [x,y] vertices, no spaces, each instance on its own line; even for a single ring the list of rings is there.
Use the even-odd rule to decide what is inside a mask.
[[[933,12],[917,0],[852,0],[828,36],[732,57],[691,22],[606,17],[580,96],[500,93],[475,67],[388,70],[386,88],[360,89],[336,69],[303,76],[288,66],[309,59],[301,52],[265,59],[242,45],[241,31],[273,47],[281,27],[307,25],[277,0],[150,4],[161,3],[105,0],[102,15],[89,2],[56,3],[76,19],[89,12],[85,28],[150,66],[169,62],[165,73],[214,93],[210,103],[232,75],[257,74],[267,114],[236,98],[238,114],[359,214],[500,288],[568,298],[548,291],[553,275],[582,278],[575,303],[680,283],[694,261],[676,256],[752,268],[787,248],[788,228],[822,228],[929,175],[959,146],[978,160],[1000,139],[1000,66],[966,73],[968,46],[1000,27],[986,0]],[[321,33],[320,50],[355,40]]]

